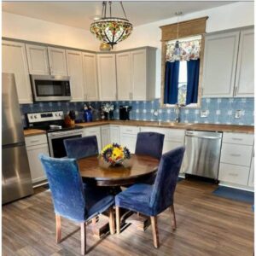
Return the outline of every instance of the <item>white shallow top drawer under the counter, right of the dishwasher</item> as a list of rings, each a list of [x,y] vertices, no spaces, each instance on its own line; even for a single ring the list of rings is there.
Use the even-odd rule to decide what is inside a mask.
[[[244,133],[224,132],[223,143],[234,143],[253,146],[254,135]]]

